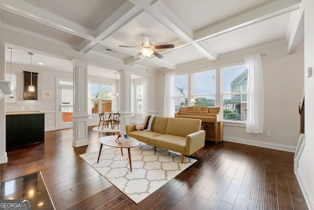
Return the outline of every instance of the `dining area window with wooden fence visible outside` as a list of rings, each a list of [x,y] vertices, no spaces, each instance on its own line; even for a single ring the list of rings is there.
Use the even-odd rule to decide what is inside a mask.
[[[92,114],[111,111],[111,96],[113,87],[107,85],[91,84]],[[101,104],[101,105],[100,105]]]

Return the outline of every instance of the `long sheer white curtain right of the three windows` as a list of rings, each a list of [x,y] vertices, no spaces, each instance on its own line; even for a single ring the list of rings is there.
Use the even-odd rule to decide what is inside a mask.
[[[261,55],[245,58],[247,76],[247,133],[263,132],[264,86]]]

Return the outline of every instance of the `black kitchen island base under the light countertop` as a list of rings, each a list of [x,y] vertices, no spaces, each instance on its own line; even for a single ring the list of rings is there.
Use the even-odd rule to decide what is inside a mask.
[[[6,115],[6,148],[45,141],[45,114]]]

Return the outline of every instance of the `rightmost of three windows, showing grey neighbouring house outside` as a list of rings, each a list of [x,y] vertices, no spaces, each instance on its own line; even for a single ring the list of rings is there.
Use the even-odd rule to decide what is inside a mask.
[[[223,120],[246,121],[247,73],[246,65],[221,69]]]

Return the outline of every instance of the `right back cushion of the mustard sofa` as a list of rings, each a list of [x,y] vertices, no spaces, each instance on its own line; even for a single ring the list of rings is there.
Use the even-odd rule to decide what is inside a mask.
[[[186,137],[201,130],[201,124],[199,119],[169,118],[165,134]]]

